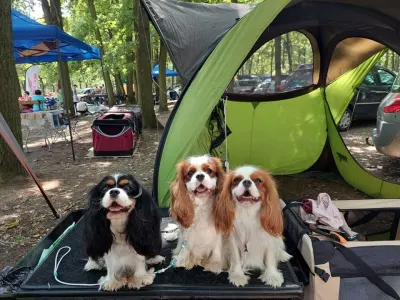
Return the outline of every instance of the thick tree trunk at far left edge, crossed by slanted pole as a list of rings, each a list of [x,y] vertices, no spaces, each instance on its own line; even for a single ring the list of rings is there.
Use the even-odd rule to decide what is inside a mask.
[[[3,115],[22,146],[21,116],[18,97],[21,95],[17,70],[13,56],[13,40],[11,27],[11,0],[5,0],[0,5],[0,113]],[[25,174],[25,169],[0,136],[0,170],[4,177]]]

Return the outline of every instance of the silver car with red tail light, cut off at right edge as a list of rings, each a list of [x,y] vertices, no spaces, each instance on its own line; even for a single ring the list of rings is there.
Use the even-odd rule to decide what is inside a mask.
[[[379,153],[400,157],[400,75],[378,107],[372,140]]]

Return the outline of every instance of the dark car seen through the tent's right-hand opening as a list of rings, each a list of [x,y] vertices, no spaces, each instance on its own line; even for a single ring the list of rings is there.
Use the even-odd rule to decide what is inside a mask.
[[[390,92],[395,78],[393,71],[381,66],[373,67],[344,112],[339,131],[346,131],[355,120],[375,120],[377,109]]]

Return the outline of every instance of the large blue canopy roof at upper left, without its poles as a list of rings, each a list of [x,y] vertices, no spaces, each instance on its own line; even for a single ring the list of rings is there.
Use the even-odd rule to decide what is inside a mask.
[[[43,25],[12,9],[15,63],[48,63],[101,59],[100,50],[70,36],[55,25]]]

